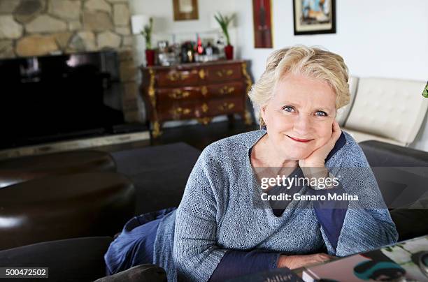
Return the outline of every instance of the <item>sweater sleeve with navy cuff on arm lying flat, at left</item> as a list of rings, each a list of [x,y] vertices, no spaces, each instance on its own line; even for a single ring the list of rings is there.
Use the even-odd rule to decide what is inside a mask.
[[[245,269],[251,265],[251,270],[258,271],[264,270],[259,269],[262,265],[276,267],[279,253],[235,251],[216,245],[217,225],[227,202],[224,200],[227,191],[215,187],[226,186],[227,177],[222,166],[215,165],[207,151],[202,152],[194,165],[176,213],[173,259],[178,281],[208,281],[210,278],[220,281],[245,274]]]

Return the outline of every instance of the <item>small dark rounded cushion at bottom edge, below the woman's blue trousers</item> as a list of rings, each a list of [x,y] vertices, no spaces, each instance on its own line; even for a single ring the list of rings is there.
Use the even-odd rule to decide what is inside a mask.
[[[166,272],[157,265],[137,265],[95,282],[167,282]]]

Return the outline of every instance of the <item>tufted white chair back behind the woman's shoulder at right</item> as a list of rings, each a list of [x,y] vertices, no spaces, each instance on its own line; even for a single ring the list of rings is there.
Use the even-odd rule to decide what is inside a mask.
[[[344,130],[361,133],[354,133],[357,142],[385,138],[383,142],[410,144],[428,109],[424,87],[425,82],[411,80],[359,78]]]

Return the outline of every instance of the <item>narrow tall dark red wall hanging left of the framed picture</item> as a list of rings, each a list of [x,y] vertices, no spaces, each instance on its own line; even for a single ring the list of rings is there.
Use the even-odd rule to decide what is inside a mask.
[[[255,48],[273,47],[271,19],[271,0],[252,0]]]

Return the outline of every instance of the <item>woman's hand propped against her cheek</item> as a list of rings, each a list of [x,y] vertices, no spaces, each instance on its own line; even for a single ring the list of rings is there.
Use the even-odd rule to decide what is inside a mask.
[[[334,148],[334,144],[341,136],[341,128],[337,121],[333,121],[331,138],[322,147],[316,149],[303,160],[299,160],[299,166],[301,168],[323,168],[325,158],[329,155],[329,152]]]

